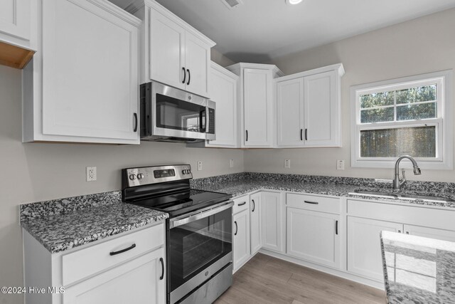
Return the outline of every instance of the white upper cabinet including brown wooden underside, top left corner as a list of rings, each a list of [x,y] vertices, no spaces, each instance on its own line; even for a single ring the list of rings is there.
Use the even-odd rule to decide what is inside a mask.
[[[38,0],[0,1],[0,64],[23,68],[37,50]]]

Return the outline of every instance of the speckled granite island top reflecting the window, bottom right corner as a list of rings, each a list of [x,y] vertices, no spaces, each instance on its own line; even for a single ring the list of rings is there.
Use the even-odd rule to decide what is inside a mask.
[[[381,233],[387,303],[455,303],[455,243]]]

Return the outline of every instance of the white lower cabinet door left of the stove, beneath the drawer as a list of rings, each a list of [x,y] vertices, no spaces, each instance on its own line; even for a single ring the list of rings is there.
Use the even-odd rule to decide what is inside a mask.
[[[164,248],[65,288],[65,304],[165,303]],[[161,262],[163,261],[163,262]]]

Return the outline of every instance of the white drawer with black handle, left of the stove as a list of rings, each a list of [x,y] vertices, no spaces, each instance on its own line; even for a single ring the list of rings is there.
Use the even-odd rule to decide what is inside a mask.
[[[107,268],[151,251],[164,244],[164,224],[120,236],[62,257],[63,285],[100,273]],[[111,256],[109,253],[134,248]]]

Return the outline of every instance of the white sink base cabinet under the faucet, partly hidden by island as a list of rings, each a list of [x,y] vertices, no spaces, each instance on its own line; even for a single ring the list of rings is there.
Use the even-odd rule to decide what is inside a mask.
[[[381,231],[455,241],[454,216],[451,210],[348,200],[348,272],[382,282]]]

